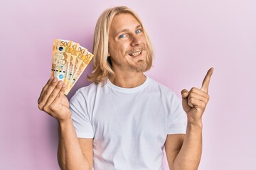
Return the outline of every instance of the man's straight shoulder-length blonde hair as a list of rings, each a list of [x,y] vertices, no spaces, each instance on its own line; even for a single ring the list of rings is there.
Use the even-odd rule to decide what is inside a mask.
[[[104,11],[100,18],[97,21],[95,26],[94,40],[92,53],[95,55],[92,59],[93,61],[93,71],[87,79],[89,81],[95,82],[95,84],[99,84],[102,81],[105,81],[108,77],[114,77],[114,72],[111,67],[110,61],[107,60],[107,55],[109,52],[108,40],[109,40],[109,32],[110,26],[114,16],[119,13],[130,13],[134,16],[137,21],[142,25],[142,21],[139,19],[132,9],[127,6],[117,6],[114,8],[109,8]],[[144,27],[142,25],[144,30]],[[151,45],[151,40],[149,39],[149,35],[147,35],[146,30],[144,30],[144,35],[146,38],[146,70],[149,70],[152,66],[153,60],[153,49]]]

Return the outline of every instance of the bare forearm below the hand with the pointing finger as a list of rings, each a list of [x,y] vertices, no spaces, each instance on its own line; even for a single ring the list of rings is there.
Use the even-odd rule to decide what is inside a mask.
[[[202,154],[202,123],[188,123],[180,152],[174,160],[173,169],[198,169]]]

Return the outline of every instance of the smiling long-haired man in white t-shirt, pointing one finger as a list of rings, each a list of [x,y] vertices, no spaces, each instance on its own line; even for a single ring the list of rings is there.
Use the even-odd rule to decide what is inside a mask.
[[[139,17],[124,6],[100,16],[93,54],[93,83],[79,89],[70,105],[65,84],[53,77],[38,98],[38,107],[59,123],[60,168],[163,169],[165,147],[170,169],[197,169],[213,69],[201,89],[181,91],[181,103],[144,75],[151,43]]]

